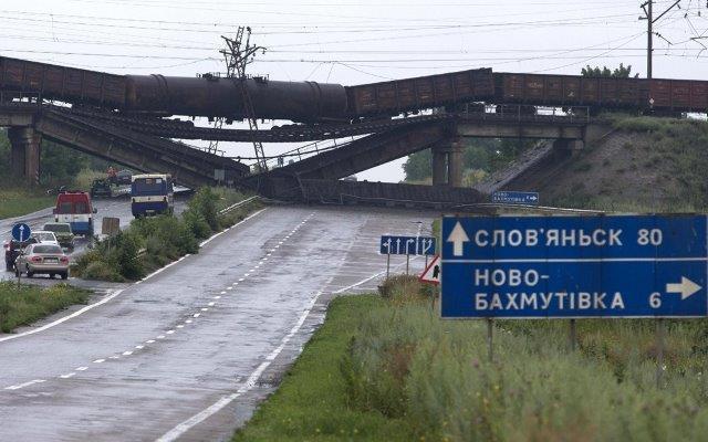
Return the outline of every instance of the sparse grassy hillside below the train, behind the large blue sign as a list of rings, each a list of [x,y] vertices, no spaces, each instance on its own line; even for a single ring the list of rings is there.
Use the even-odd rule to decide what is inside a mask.
[[[543,204],[700,211],[708,207],[708,123],[606,116],[610,133],[582,151],[555,152],[506,182]]]

